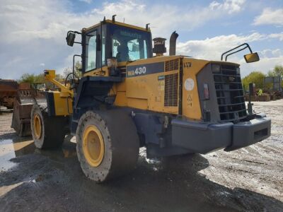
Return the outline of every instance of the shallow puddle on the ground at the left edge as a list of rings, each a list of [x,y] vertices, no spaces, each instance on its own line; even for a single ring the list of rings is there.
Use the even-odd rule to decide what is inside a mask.
[[[0,140],[0,171],[6,171],[16,166],[16,163],[10,161],[12,158],[33,153],[35,147],[32,143],[33,141]]]

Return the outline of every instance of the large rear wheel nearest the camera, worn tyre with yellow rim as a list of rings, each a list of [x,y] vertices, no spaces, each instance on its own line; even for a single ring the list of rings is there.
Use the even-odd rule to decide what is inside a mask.
[[[135,167],[139,156],[136,126],[121,109],[83,114],[76,143],[83,173],[96,182],[125,175]]]

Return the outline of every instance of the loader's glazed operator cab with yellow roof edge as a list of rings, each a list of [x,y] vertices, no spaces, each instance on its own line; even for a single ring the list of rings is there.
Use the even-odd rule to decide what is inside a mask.
[[[104,20],[82,30],[82,72],[107,66],[107,59],[116,58],[118,66],[128,61],[153,57],[149,29]]]

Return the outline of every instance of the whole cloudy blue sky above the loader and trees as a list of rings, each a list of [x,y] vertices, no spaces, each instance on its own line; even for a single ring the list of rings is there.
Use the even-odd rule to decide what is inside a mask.
[[[248,42],[260,61],[246,64],[245,52],[229,61],[241,64],[242,76],[267,73],[283,65],[282,0],[99,1],[0,0],[0,78],[72,66],[81,46],[66,44],[68,30],[81,30],[116,14],[116,20],[145,27],[168,41],[176,30],[177,54],[219,60],[221,53]]]

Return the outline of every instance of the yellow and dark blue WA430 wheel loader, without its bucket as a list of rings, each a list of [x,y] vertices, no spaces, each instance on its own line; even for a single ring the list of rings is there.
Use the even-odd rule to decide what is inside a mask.
[[[82,77],[73,72],[61,84],[54,70],[45,70],[45,79],[60,89],[46,91],[46,102],[33,106],[35,146],[53,148],[75,135],[84,174],[104,182],[132,170],[142,146],[154,158],[233,151],[270,136],[270,119],[251,105],[246,110],[239,64],[226,61],[243,49],[250,50],[247,62],[258,61],[258,54],[243,44],[221,61],[176,56],[177,37],[171,35],[170,55],[163,56],[165,39],[155,38],[153,48],[149,25],[112,16],[69,31],[67,45],[82,47],[73,58],[74,64],[81,57]]]

